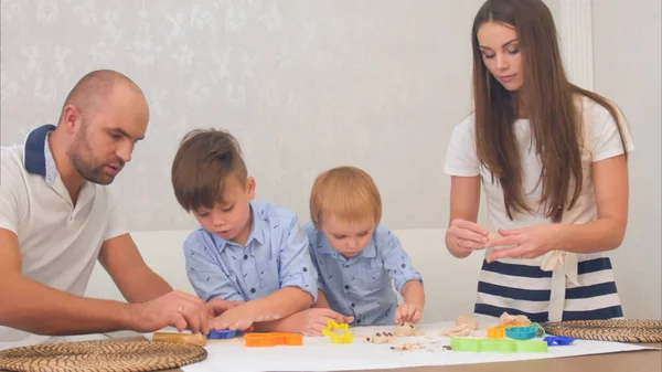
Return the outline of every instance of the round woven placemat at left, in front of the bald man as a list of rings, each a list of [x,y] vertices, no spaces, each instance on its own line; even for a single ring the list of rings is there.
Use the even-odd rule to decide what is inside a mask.
[[[0,370],[20,372],[138,372],[174,369],[204,360],[202,347],[149,341],[85,341],[0,351]]]

